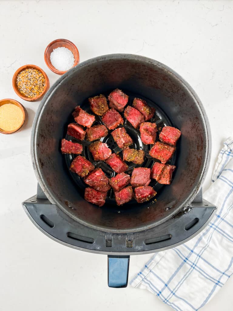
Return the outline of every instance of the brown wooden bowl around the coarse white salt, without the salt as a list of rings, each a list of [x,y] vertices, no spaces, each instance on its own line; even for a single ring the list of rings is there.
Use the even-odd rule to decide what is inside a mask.
[[[57,40],[50,42],[44,51],[44,61],[46,65],[48,66],[48,68],[52,70],[53,72],[57,73],[58,75],[63,75],[68,70],[60,71],[60,70],[57,70],[55,67],[53,67],[50,61],[50,54],[53,52],[54,49],[61,48],[61,47],[67,48],[73,53],[75,62],[72,67],[75,67],[76,65],[78,65],[79,60],[80,60],[79,50],[77,49],[75,44],[73,44],[71,41],[66,40],[66,39],[57,39]]]

